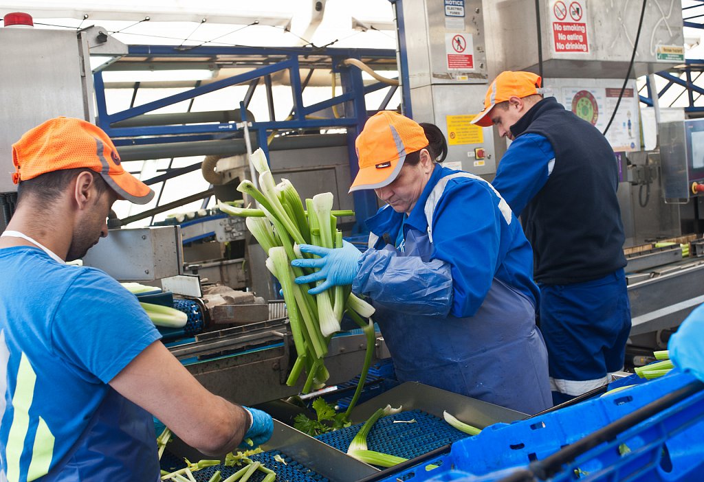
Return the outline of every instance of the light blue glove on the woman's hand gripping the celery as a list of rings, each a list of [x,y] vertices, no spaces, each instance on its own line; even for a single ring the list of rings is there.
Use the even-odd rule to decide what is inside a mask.
[[[320,268],[313,274],[298,276],[297,285],[325,280],[320,286],[308,289],[310,294],[324,292],[333,286],[351,285],[359,272],[359,259],[362,257],[359,249],[350,242],[343,241],[337,249],[323,248],[313,245],[301,245],[301,252],[320,256],[315,259],[294,259],[291,266],[298,268]]]

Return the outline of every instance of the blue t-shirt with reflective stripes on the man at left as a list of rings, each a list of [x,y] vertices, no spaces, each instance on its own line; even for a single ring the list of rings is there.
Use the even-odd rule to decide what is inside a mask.
[[[98,269],[11,247],[0,273],[0,480],[34,480],[83,443],[101,405],[113,406],[108,382],[160,334]]]

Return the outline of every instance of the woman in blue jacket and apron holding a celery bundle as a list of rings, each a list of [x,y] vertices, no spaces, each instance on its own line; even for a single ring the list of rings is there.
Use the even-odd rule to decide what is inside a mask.
[[[532,251],[491,184],[441,167],[442,132],[396,112],[370,117],[356,141],[351,191],[386,205],[367,220],[369,249],[308,245],[320,268],[310,290],[352,284],[374,319],[401,381],[415,381],[524,413],[551,406],[547,352],[536,329]]]

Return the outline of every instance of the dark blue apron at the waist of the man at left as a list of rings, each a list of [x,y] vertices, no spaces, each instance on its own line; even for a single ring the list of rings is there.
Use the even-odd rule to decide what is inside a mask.
[[[108,388],[83,435],[42,478],[47,482],[159,481],[153,418]]]

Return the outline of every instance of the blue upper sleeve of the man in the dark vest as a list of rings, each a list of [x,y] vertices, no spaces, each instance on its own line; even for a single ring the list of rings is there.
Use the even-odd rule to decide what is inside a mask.
[[[501,157],[491,184],[516,216],[520,216],[548,181],[554,162],[555,151],[546,137],[524,134],[516,138]]]

